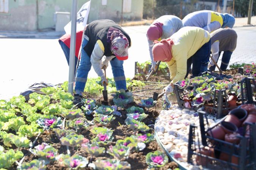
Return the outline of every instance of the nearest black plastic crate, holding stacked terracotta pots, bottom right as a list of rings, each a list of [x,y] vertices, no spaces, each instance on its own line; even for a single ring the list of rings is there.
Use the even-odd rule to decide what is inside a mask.
[[[240,143],[237,145],[215,139],[207,135],[207,132],[217,126],[226,117],[217,122],[215,126],[209,127],[206,131],[204,128],[204,117],[206,118],[206,113],[203,111],[199,111],[201,141],[195,140],[195,137],[198,135],[195,134],[195,129],[197,129],[198,127],[193,124],[190,125],[188,139],[188,163],[193,163],[192,158],[193,156],[196,156],[198,159],[203,161],[201,162],[201,164],[203,164],[205,168],[220,168],[221,170],[255,170],[256,133],[250,133],[250,136],[246,136],[244,131],[243,135],[239,136]],[[247,125],[249,125],[251,131],[256,131],[256,124]],[[201,145],[214,149],[214,154],[209,156],[196,152],[196,147],[200,148],[200,142]],[[226,156],[228,157],[228,161],[223,161],[219,159],[221,154],[226,154]],[[234,164],[234,162],[237,162],[237,164]]]

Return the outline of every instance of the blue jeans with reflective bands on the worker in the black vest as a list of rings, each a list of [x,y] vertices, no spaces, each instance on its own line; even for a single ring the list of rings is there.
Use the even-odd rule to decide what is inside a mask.
[[[88,43],[87,39],[83,39],[82,42],[82,57],[77,68],[77,74],[75,75],[75,91],[76,93],[83,92],[87,81],[88,73],[91,70],[91,58],[83,49]],[[116,90],[126,90],[126,78],[124,75],[123,61],[112,59],[110,65],[112,67],[112,73],[116,83]]]

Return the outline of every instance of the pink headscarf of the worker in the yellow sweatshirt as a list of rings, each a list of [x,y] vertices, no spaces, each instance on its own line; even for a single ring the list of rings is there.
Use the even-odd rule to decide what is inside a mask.
[[[160,42],[154,41],[155,45],[152,48],[154,61],[169,62],[173,55],[171,54],[171,48],[174,45],[172,39],[163,39]]]

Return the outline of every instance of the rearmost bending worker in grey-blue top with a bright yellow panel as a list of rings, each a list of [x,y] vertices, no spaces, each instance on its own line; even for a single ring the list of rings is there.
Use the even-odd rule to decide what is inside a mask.
[[[235,18],[231,14],[203,10],[188,14],[182,22],[183,26],[196,26],[212,32],[219,28],[233,28]]]

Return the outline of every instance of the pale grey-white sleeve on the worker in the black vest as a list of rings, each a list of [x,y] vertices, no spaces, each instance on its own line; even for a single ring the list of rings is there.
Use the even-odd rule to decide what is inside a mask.
[[[99,46],[98,42],[95,44],[93,53],[91,54],[91,65],[93,66],[94,71],[98,76],[104,76],[103,71],[101,70],[101,58],[104,55],[104,51]]]

